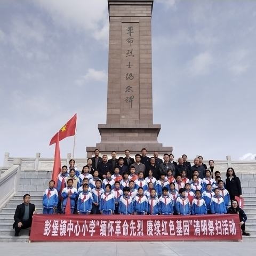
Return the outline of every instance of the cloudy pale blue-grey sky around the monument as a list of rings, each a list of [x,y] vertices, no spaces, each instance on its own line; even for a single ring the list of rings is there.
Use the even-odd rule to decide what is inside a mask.
[[[255,159],[255,21],[256,1],[154,1],[154,124],[175,158]],[[100,142],[108,27],[107,0],[1,0],[0,165],[5,151],[53,157],[75,113],[75,156]]]

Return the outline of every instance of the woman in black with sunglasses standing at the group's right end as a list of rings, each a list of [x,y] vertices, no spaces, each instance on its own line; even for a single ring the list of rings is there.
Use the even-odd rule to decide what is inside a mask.
[[[239,178],[236,177],[235,171],[231,167],[228,168],[226,176],[226,189],[228,190],[230,201],[232,202],[235,196],[242,197],[241,182]]]

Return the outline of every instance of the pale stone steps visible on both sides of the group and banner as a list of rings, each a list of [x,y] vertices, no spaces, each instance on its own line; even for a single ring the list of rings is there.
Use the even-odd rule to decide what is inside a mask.
[[[18,204],[23,202],[23,195],[31,195],[31,203],[34,203],[38,213],[42,213],[42,196],[51,180],[49,171],[21,171],[19,191],[10,199],[0,212],[0,242],[28,242],[29,230],[21,230],[19,237],[14,237],[13,216]],[[244,196],[244,211],[247,215],[246,231],[250,237],[243,236],[243,241],[256,241],[256,195]]]

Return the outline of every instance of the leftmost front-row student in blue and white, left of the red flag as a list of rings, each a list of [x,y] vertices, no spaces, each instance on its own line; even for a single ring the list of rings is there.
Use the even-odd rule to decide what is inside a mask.
[[[53,214],[54,209],[57,207],[59,202],[59,195],[57,189],[54,188],[55,181],[49,182],[49,188],[44,192],[43,196],[43,214]]]

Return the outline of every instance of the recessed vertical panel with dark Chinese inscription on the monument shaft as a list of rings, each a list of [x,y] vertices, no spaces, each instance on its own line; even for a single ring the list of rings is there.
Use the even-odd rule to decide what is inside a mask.
[[[139,119],[139,23],[122,23],[121,116]]]

